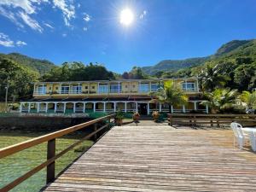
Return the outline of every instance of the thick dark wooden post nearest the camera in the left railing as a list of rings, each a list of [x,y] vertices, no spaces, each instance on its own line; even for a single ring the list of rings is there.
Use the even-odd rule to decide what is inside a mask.
[[[55,156],[55,139],[47,143],[47,160]],[[47,166],[46,183],[52,183],[55,180],[55,161]]]

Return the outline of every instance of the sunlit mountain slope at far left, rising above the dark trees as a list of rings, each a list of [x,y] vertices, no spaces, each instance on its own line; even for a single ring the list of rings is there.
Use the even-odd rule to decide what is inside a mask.
[[[47,73],[52,67],[55,67],[55,64],[50,61],[34,59],[32,57],[21,55],[19,53],[10,53],[7,55],[0,54],[0,58],[6,58],[11,61],[15,61],[18,64],[28,67],[40,74]]]

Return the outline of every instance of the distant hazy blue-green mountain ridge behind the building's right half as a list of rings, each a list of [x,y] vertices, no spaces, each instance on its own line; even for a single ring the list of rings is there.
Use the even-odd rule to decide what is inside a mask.
[[[177,71],[181,68],[194,67],[203,64],[209,57],[196,57],[185,60],[164,60],[152,67],[142,67],[143,73],[154,75],[159,71]]]

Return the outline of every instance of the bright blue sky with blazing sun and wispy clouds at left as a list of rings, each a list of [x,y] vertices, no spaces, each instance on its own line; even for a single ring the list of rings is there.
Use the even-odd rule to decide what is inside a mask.
[[[251,38],[255,0],[0,0],[0,52],[56,65],[97,62],[123,73]]]

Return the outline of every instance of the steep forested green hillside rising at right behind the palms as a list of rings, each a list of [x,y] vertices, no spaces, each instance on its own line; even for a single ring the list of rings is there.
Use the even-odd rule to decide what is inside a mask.
[[[224,44],[203,65],[165,72],[161,78],[204,76],[212,79],[214,75],[227,77],[225,84],[231,89],[256,89],[256,39]]]

